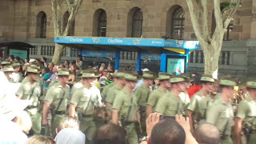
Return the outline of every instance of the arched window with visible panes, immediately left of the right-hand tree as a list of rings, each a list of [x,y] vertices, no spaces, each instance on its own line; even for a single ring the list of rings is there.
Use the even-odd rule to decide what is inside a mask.
[[[182,6],[178,6],[171,17],[171,36],[173,39],[183,39],[185,26],[185,13]]]

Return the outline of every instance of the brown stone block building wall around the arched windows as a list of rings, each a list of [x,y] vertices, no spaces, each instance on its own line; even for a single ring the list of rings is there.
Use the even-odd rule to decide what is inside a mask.
[[[234,17],[234,29],[230,38],[245,40],[255,37],[256,0],[242,0],[242,6]],[[54,37],[52,10],[50,0],[1,0],[0,37],[5,38],[35,38],[37,33],[37,16],[41,11],[46,13],[46,38]],[[127,37],[130,34],[129,12],[138,7],[143,13],[143,38],[162,38],[170,35],[170,17],[176,6],[182,6],[185,11],[185,39],[195,39],[190,14],[185,0],[85,0],[75,18],[74,35],[92,36],[94,29],[94,13],[98,9],[106,11],[107,37]],[[209,6],[210,25],[214,26],[212,5]],[[62,5],[63,15],[67,10],[66,3]],[[96,18],[97,19],[97,18]],[[201,20],[200,20],[201,22]]]

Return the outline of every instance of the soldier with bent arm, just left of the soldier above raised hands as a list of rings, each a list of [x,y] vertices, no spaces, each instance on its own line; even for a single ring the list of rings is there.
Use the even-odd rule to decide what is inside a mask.
[[[157,80],[159,80],[160,86],[150,94],[150,97],[147,100],[147,106],[146,106],[147,117],[152,112],[154,112],[155,106],[158,103],[158,98],[166,94],[168,92],[168,88],[170,87],[170,74],[160,72],[158,73]]]

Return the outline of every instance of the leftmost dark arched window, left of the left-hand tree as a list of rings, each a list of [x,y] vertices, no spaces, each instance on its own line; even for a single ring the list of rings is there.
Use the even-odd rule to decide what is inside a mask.
[[[36,30],[36,38],[46,38],[46,25],[47,17],[46,13],[41,11],[37,16],[37,30]]]

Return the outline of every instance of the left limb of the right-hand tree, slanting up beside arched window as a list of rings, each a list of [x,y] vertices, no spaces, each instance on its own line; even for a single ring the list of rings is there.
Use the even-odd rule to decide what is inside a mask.
[[[198,23],[198,13],[197,11],[194,10],[194,4],[192,0],[186,0],[187,6],[189,7],[190,10],[190,18],[191,22],[194,28],[194,33],[196,34],[198,41],[202,45],[202,49],[204,49],[204,46],[206,46],[207,42],[206,39],[202,35],[202,31],[200,29],[199,23]]]

